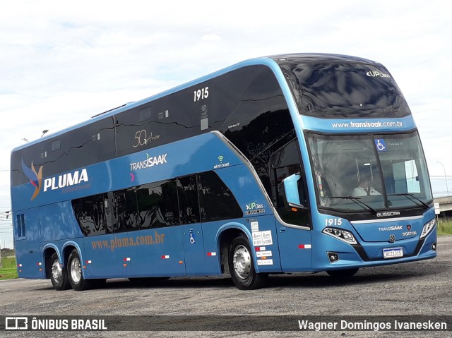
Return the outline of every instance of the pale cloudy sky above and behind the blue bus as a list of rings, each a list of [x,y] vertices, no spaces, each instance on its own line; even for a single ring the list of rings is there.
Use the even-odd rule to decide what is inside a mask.
[[[12,247],[13,147],[239,61],[321,52],[379,61],[452,191],[447,1],[1,1],[0,246]],[[24,140],[25,139],[25,140]],[[440,163],[439,163],[440,162]]]

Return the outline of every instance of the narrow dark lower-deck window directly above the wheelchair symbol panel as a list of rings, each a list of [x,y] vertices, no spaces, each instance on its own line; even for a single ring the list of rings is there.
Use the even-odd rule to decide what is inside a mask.
[[[180,224],[200,222],[196,176],[177,179],[177,196]]]

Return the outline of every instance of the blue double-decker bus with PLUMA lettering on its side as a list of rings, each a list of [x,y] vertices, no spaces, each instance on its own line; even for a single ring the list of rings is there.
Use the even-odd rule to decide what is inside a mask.
[[[57,290],[436,256],[410,108],[352,56],[251,59],[16,147],[11,200],[19,277]]]

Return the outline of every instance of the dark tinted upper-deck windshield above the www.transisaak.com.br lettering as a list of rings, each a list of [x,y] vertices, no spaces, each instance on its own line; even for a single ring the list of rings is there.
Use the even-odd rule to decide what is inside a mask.
[[[328,119],[410,114],[405,98],[382,66],[300,63],[285,68],[301,114]]]

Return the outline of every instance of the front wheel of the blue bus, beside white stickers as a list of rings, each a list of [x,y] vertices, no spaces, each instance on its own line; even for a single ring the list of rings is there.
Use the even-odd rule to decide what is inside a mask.
[[[239,236],[231,242],[228,264],[237,289],[254,290],[265,284],[268,274],[258,274],[254,270],[253,255],[245,236]]]

